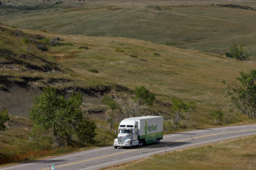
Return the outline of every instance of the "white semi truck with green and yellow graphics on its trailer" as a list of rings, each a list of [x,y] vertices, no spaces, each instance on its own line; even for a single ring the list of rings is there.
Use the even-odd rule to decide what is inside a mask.
[[[159,143],[163,139],[163,117],[142,116],[125,118],[118,127],[118,137],[114,139],[114,148],[143,146]]]

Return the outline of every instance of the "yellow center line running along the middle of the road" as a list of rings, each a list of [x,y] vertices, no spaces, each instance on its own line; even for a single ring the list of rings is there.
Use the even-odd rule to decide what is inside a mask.
[[[195,137],[195,138],[182,139],[182,140],[180,140],[180,141],[175,141],[175,142],[187,141],[187,140],[189,140],[189,139],[196,139],[196,138],[209,137],[209,136],[218,135],[218,134],[234,133],[234,132],[239,132],[239,131],[251,131],[251,130],[256,130],[256,129],[238,130],[238,131],[230,131],[230,132],[224,132],[224,133],[216,133],[216,134],[204,135],[204,136]],[[106,155],[106,156],[101,156],[101,157],[97,157],[97,158],[82,160],[82,161],[79,161],[79,162],[74,162],[74,163],[59,165],[59,166],[56,166],[56,167],[63,167],[63,166],[66,166],[66,165],[72,165],[72,164],[77,164],[77,163],[81,163],[81,162],[87,162],[87,161],[89,161],[89,160],[95,160],[95,159],[105,158],[105,157],[108,157],[108,156],[119,155],[119,154],[123,154],[123,153],[126,153],[126,152],[138,151],[138,150],[142,150],[142,149],[144,149],[144,148],[150,148],[150,147],[155,147],[155,146],[168,145],[168,144],[170,144],[170,143],[175,143],[175,142],[169,142],[169,143],[164,143],[164,144],[160,144],[160,145],[154,145],[154,146],[149,146],[149,147],[143,147],[143,148],[139,148],[139,149],[136,149],[136,150],[130,150],[130,151],[125,151],[125,152],[119,152],[119,153],[117,153],[117,154]],[[45,168],[45,169],[51,169],[51,168]],[[45,169],[42,169],[42,170],[45,170]]]

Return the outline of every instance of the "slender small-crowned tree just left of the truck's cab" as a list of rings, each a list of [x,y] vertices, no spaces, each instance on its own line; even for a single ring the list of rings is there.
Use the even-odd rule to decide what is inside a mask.
[[[102,103],[107,105],[109,109],[111,109],[111,112],[109,114],[109,119],[107,122],[110,124],[110,132],[112,132],[113,122],[114,122],[114,110],[118,108],[117,102],[114,100],[113,96],[105,96],[102,100]]]

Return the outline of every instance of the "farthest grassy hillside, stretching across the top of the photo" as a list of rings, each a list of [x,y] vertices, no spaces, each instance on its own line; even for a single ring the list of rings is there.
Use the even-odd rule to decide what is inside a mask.
[[[17,5],[3,1],[35,8],[4,9],[0,22],[57,33],[129,37],[220,54],[236,42],[245,46],[247,54],[256,54],[254,1],[224,1],[218,5],[208,1],[61,2],[19,1]],[[223,4],[238,7],[220,6]]]

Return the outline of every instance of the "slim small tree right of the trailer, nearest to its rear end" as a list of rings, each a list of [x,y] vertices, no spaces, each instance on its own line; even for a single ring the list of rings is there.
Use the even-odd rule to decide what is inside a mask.
[[[179,122],[181,119],[181,111],[185,108],[185,104],[180,99],[172,100],[172,110],[175,112],[174,114],[174,130],[177,130],[177,126],[179,126]]]

